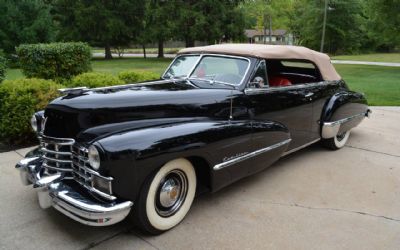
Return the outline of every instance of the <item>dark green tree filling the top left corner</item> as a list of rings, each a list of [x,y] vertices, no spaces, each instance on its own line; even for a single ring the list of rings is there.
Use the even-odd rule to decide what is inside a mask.
[[[0,0],[0,48],[14,54],[23,43],[53,40],[50,8],[42,0]]]

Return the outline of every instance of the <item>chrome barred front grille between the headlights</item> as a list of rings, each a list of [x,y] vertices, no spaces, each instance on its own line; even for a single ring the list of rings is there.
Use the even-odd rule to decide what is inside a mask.
[[[113,178],[101,176],[90,168],[87,148],[70,138],[41,136],[39,140],[43,152],[43,166],[50,174],[64,173],[65,178],[75,180],[89,191],[109,200],[116,199],[112,196],[111,181]],[[106,192],[94,187],[96,178],[107,183]]]

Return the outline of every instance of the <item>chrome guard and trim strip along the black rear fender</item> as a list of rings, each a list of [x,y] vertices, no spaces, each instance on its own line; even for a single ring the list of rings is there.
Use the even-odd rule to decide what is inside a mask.
[[[347,117],[338,121],[334,121],[334,122],[324,122],[322,124],[322,131],[321,131],[321,137],[324,139],[328,139],[328,138],[333,138],[335,137],[339,132],[345,132],[345,131],[341,131],[341,128],[345,125],[345,124],[351,124],[351,128],[357,126],[358,124],[360,124],[360,122],[365,118],[365,117],[370,117],[371,114],[371,110],[367,110],[365,113],[361,113],[361,114],[357,114],[357,115],[353,115],[351,117]]]

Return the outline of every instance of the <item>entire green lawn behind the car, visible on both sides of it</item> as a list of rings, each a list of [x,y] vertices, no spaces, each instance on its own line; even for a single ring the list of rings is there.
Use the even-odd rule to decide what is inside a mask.
[[[93,71],[117,74],[124,70],[148,70],[162,74],[172,59],[126,58],[93,60]],[[366,65],[335,65],[349,87],[367,95],[373,106],[400,106],[400,68]],[[24,77],[19,69],[10,69],[7,79]]]

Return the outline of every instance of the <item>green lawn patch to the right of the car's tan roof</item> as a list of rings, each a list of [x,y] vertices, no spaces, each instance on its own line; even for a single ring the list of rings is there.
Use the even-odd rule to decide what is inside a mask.
[[[366,94],[371,106],[400,106],[400,68],[336,64],[351,90]]]

